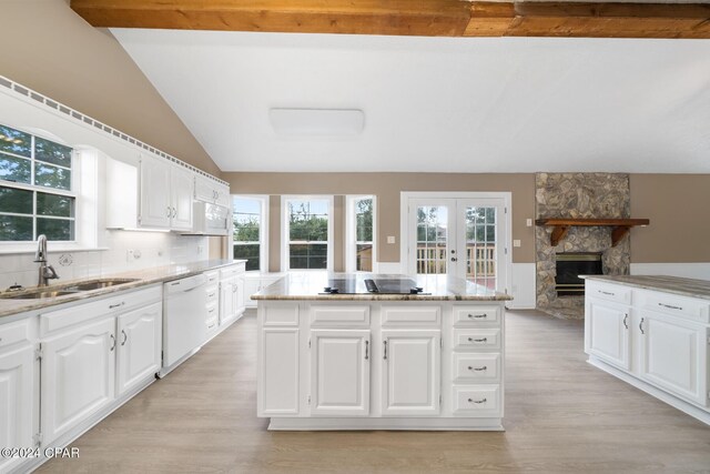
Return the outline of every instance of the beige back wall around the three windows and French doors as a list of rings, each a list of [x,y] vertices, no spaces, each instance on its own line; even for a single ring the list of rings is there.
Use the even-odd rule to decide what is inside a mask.
[[[377,196],[377,261],[399,261],[399,193],[403,191],[508,191],[513,193],[513,239],[521,246],[514,249],[515,263],[534,262],[532,228],[526,219],[535,213],[535,175],[467,174],[467,173],[224,173],[233,193],[272,194],[270,205],[270,269],[277,271],[281,262],[281,210],[276,194],[374,194]],[[337,203],[336,203],[337,208]],[[342,219],[342,212],[339,213]],[[336,213],[336,216],[338,214]],[[342,230],[344,223],[335,223]],[[396,238],[387,243],[387,235]],[[337,239],[336,242],[342,240]],[[338,246],[341,249],[338,249]],[[342,245],[335,255],[343,265]]]

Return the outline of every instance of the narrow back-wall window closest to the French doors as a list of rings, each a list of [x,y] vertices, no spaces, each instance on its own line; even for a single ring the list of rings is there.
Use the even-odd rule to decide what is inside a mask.
[[[347,196],[347,271],[372,272],[375,262],[375,196]]]

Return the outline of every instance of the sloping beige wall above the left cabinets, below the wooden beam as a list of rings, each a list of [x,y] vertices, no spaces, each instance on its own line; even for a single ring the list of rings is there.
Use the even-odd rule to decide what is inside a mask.
[[[220,169],[119,42],[65,0],[3,0],[0,74],[209,173]]]

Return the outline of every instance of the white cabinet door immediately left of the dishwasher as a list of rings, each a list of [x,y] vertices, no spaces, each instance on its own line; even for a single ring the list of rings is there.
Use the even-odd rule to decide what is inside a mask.
[[[154,303],[119,316],[118,395],[161,367],[163,306]]]

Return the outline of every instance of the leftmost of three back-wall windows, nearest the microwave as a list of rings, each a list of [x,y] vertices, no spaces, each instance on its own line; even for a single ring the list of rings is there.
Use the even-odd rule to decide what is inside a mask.
[[[268,196],[232,196],[234,258],[246,259],[246,270],[267,271],[266,210]]]

